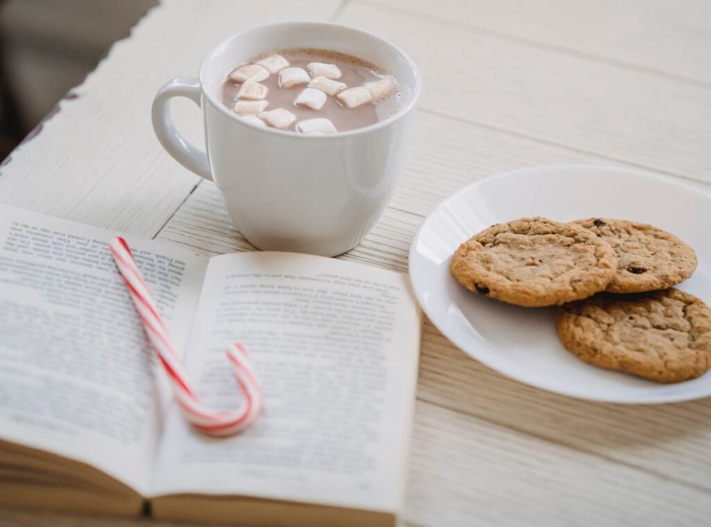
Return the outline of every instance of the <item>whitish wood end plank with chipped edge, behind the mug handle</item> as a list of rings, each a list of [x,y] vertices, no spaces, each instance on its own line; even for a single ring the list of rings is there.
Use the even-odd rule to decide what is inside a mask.
[[[196,75],[210,47],[267,21],[324,20],[340,0],[265,0],[242,9],[230,0],[168,0],[149,11],[58,113],[0,167],[0,201],[90,225],[151,237],[196,185],[154,137],[155,92]],[[189,38],[186,38],[189,36]],[[201,114],[175,105],[178,128],[201,144]]]

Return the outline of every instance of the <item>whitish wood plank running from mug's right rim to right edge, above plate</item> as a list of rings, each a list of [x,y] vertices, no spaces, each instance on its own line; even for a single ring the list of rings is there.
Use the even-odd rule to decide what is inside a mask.
[[[424,109],[711,181],[707,87],[371,4],[348,4],[338,21],[412,55]]]

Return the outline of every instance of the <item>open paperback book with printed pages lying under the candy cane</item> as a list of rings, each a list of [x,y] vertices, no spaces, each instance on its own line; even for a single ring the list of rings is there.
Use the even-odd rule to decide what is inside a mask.
[[[240,403],[231,342],[260,378],[255,426],[211,439],[171,400],[112,235],[0,206],[0,504],[395,525],[422,321],[407,277],[285,252],[208,258],[127,237],[201,400]]]

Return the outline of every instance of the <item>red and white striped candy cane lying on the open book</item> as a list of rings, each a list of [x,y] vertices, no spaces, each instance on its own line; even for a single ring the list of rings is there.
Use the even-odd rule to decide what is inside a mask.
[[[198,396],[188,383],[185,368],[168,338],[166,325],[158,314],[156,303],[146,286],[126,240],[117,236],[109,243],[116,267],[131,292],[139,319],[146,335],[163,365],[173,388],[176,402],[183,415],[194,427],[208,435],[225,437],[249,428],[262,410],[262,390],[252,370],[247,352],[240,344],[232,344],[227,358],[232,364],[237,384],[240,385],[244,402],[231,412],[213,412],[203,408]]]

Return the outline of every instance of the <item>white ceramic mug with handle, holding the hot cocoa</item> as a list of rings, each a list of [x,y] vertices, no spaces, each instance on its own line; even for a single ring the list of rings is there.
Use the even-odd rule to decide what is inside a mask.
[[[226,74],[255,55],[284,48],[321,48],[355,55],[395,76],[400,110],[348,132],[304,136],[240,121],[218,100]],[[360,243],[378,220],[397,181],[419,73],[392,44],[331,23],[275,23],[252,28],[213,48],[199,78],[175,78],[153,102],[153,126],[183,166],[215,181],[235,226],[262,250],[333,256]],[[173,126],[172,97],[188,97],[204,114],[207,154]]]

